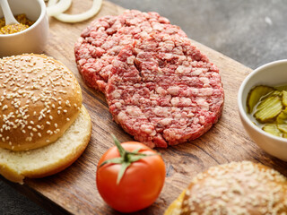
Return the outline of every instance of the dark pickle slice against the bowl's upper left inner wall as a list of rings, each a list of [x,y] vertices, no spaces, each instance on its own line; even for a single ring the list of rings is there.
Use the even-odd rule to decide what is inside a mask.
[[[247,99],[248,113],[251,114],[253,112],[253,108],[257,105],[260,98],[272,91],[274,91],[274,88],[267,86],[257,86],[250,90]]]

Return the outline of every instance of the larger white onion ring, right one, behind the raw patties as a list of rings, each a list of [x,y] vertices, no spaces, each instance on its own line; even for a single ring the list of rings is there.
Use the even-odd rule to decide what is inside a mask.
[[[65,0],[60,0],[60,2],[61,1],[65,1]],[[57,5],[56,2],[57,0],[50,0],[48,4],[49,6],[55,6]],[[85,20],[90,19],[92,16],[96,15],[97,13],[99,13],[101,4],[102,4],[102,0],[93,0],[91,8],[84,13],[65,14],[61,12],[57,14],[53,13],[53,15],[51,16],[54,16],[57,20],[61,22],[83,22]]]

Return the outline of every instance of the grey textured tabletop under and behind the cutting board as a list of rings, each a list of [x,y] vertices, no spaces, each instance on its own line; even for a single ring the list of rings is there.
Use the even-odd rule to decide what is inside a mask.
[[[110,0],[155,11],[191,39],[256,68],[287,58],[286,0]],[[48,214],[0,180],[0,214]]]

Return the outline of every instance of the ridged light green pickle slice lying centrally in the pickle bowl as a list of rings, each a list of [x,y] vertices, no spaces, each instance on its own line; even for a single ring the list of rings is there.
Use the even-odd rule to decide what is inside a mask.
[[[254,116],[261,123],[270,122],[275,116],[280,114],[282,108],[283,104],[281,98],[278,96],[271,96],[260,102]]]

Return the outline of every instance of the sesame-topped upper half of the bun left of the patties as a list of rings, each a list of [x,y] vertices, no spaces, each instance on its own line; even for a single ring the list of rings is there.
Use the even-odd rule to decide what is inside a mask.
[[[80,85],[59,61],[33,54],[0,59],[0,148],[56,142],[81,107]]]

